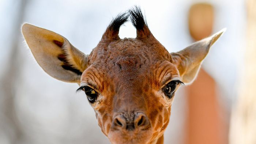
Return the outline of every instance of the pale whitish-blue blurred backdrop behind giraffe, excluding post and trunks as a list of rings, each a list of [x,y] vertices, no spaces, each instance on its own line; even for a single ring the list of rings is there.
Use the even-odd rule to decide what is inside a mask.
[[[97,125],[93,109],[83,93],[76,94],[77,84],[64,83],[48,76],[27,48],[16,20],[21,0],[0,0],[0,77],[10,66],[11,45],[18,39],[21,69],[12,91],[15,91],[16,122],[22,129],[19,144],[99,144],[109,143]],[[228,110],[236,102],[238,69],[242,68],[245,37],[245,2],[243,0],[28,0],[24,22],[63,35],[76,48],[89,54],[97,45],[113,17],[133,5],[144,11],[153,35],[169,52],[181,50],[193,41],[188,31],[188,10],[195,2],[209,2],[215,7],[213,32],[224,27],[226,33],[212,46],[203,67],[218,83],[219,101]],[[19,26],[21,27],[21,23]],[[120,28],[120,37],[136,37],[130,22]],[[4,85],[4,82],[1,82]],[[4,95],[0,92],[0,105]],[[172,107],[165,143],[182,144],[186,99],[178,90]],[[0,107],[1,108],[1,107]],[[11,143],[12,130],[0,110],[0,143]]]

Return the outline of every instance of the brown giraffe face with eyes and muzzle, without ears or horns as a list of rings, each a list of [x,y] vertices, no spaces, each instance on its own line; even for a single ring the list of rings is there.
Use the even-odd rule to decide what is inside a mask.
[[[80,86],[112,143],[148,143],[162,136],[180,85],[169,58],[159,43],[133,38],[93,50]]]

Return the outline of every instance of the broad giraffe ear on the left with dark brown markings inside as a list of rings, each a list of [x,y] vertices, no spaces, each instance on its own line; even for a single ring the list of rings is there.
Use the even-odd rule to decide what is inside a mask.
[[[26,23],[22,33],[35,60],[46,73],[64,82],[80,82],[82,72],[87,68],[88,55],[53,31]]]

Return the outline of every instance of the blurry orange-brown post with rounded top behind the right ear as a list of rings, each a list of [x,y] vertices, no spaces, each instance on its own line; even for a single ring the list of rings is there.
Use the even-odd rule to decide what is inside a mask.
[[[199,3],[189,10],[189,32],[195,41],[212,33],[214,10],[212,5]],[[216,83],[202,68],[195,80],[187,87],[188,119],[187,144],[224,144],[221,136],[223,122],[219,117]]]

